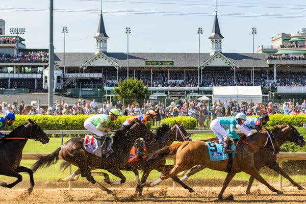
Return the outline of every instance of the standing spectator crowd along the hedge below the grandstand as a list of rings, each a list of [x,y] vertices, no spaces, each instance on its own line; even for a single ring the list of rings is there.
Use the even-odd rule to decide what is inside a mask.
[[[113,105],[110,100],[105,101],[101,107],[98,107],[95,99],[91,103],[86,103],[85,100],[75,101],[73,105],[68,105],[64,100],[59,103],[55,101],[53,107],[48,107],[46,110],[37,105],[36,101],[31,101],[31,106],[28,107],[20,101],[17,105],[16,102],[7,104],[0,102],[0,114],[7,114],[9,112],[15,115],[78,115],[78,114],[108,114],[112,108],[119,110],[120,115],[135,116],[144,114],[148,110],[156,112],[156,118],[153,121],[154,125],[160,125],[161,120],[169,117],[189,116],[197,121],[199,129],[206,129],[209,126],[209,118],[211,120],[217,117],[235,116],[237,113],[244,113],[247,116],[251,115],[271,115],[271,114],[284,114],[284,115],[304,115],[306,110],[306,99],[303,103],[298,102],[293,104],[293,101],[284,101],[282,104],[269,103],[252,103],[248,101],[220,101],[215,100],[213,104],[207,104],[205,100],[196,100],[181,98],[180,100],[172,100],[169,106],[165,106],[164,102],[158,101],[157,104],[152,100],[147,100],[144,104],[139,104],[137,100],[133,101],[127,106],[123,106],[119,100]]]

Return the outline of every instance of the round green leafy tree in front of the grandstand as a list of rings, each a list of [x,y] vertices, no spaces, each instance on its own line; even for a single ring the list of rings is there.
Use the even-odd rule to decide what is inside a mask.
[[[114,88],[115,93],[118,94],[116,98],[123,100],[125,104],[132,104],[134,100],[138,102],[144,101],[149,97],[148,86],[143,84],[142,80],[126,79],[118,83],[118,88]]]

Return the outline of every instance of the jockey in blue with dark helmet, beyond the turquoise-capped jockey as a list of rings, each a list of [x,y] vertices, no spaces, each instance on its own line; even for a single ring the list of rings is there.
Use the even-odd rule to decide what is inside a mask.
[[[238,114],[240,114],[240,113],[238,113]],[[239,117],[238,114],[235,116],[236,118]],[[270,120],[270,118],[269,118],[268,115],[261,115],[259,118],[248,117],[242,125],[237,124],[236,127],[243,134],[245,134],[247,137],[249,137],[250,135],[253,134],[253,132],[250,129],[261,131],[262,126],[266,125],[269,120]]]

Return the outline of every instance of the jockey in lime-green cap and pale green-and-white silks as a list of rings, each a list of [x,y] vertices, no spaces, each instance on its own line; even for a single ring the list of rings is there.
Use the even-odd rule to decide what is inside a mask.
[[[109,122],[116,120],[118,116],[120,115],[118,109],[111,109],[109,111],[109,114],[97,114],[90,116],[87,118],[84,122],[84,127],[86,130],[89,130],[93,134],[100,137],[101,144],[105,141],[105,136],[107,132],[109,132],[111,129],[109,127]],[[107,152],[113,152],[113,149],[110,147],[112,144],[107,147]]]

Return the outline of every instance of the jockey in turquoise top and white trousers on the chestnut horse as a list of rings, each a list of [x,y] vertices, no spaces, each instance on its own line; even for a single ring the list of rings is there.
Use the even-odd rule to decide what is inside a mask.
[[[246,116],[243,113],[241,113],[239,118],[217,117],[211,122],[210,127],[212,131],[219,139],[219,143],[223,143],[224,153],[231,151],[231,149],[227,149],[227,143],[230,137],[234,139],[240,139],[240,137],[235,132],[234,128],[237,124],[240,125],[243,124],[245,120]],[[226,132],[225,129],[228,129],[228,131]]]

